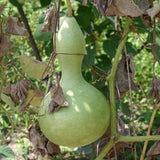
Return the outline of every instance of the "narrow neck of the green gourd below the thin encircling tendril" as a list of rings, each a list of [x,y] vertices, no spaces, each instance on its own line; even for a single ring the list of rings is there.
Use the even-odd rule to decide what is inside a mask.
[[[83,55],[58,55],[61,66],[61,82],[76,82],[82,79],[81,65]]]

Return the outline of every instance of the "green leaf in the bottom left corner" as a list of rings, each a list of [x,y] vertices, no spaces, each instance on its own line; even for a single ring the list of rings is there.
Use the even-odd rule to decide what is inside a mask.
[[[3,158],[10,158],[10,159],[13,159],[15,157],[13,151],[6,145],[0,146],[0,156]]]

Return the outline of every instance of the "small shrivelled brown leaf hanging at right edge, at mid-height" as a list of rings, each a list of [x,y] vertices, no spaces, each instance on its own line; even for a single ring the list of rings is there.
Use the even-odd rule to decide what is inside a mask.
[[[155,97],[157,104],[160,102],[160,80],[156,77],[152,80],[148,96],[149,98]]]

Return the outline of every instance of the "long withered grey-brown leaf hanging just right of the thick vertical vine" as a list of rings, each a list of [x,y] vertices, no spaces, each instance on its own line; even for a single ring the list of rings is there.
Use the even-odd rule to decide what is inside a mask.
[[[128,67],[127,67],[128,63]],[[129,71],[128,71],[129,69]],[[128,77],[129,72],[129,77]],[[137,90],[134,83],[135,67],[133,61],[133,55],[128,54],[125,56],[123,54],[122,59],[118,63],[116,75],[115,75],[115,98],[120,99],[129,91],[129,83],[131,85],[131,90]],[[130,79],[130,82],[129,82]]]

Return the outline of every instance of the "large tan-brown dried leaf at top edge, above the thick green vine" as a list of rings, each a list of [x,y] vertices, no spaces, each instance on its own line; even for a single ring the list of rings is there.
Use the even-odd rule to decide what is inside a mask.
[[[92,0],[101,14],[106,16],[139,17],[143,14],[133,0]]]

